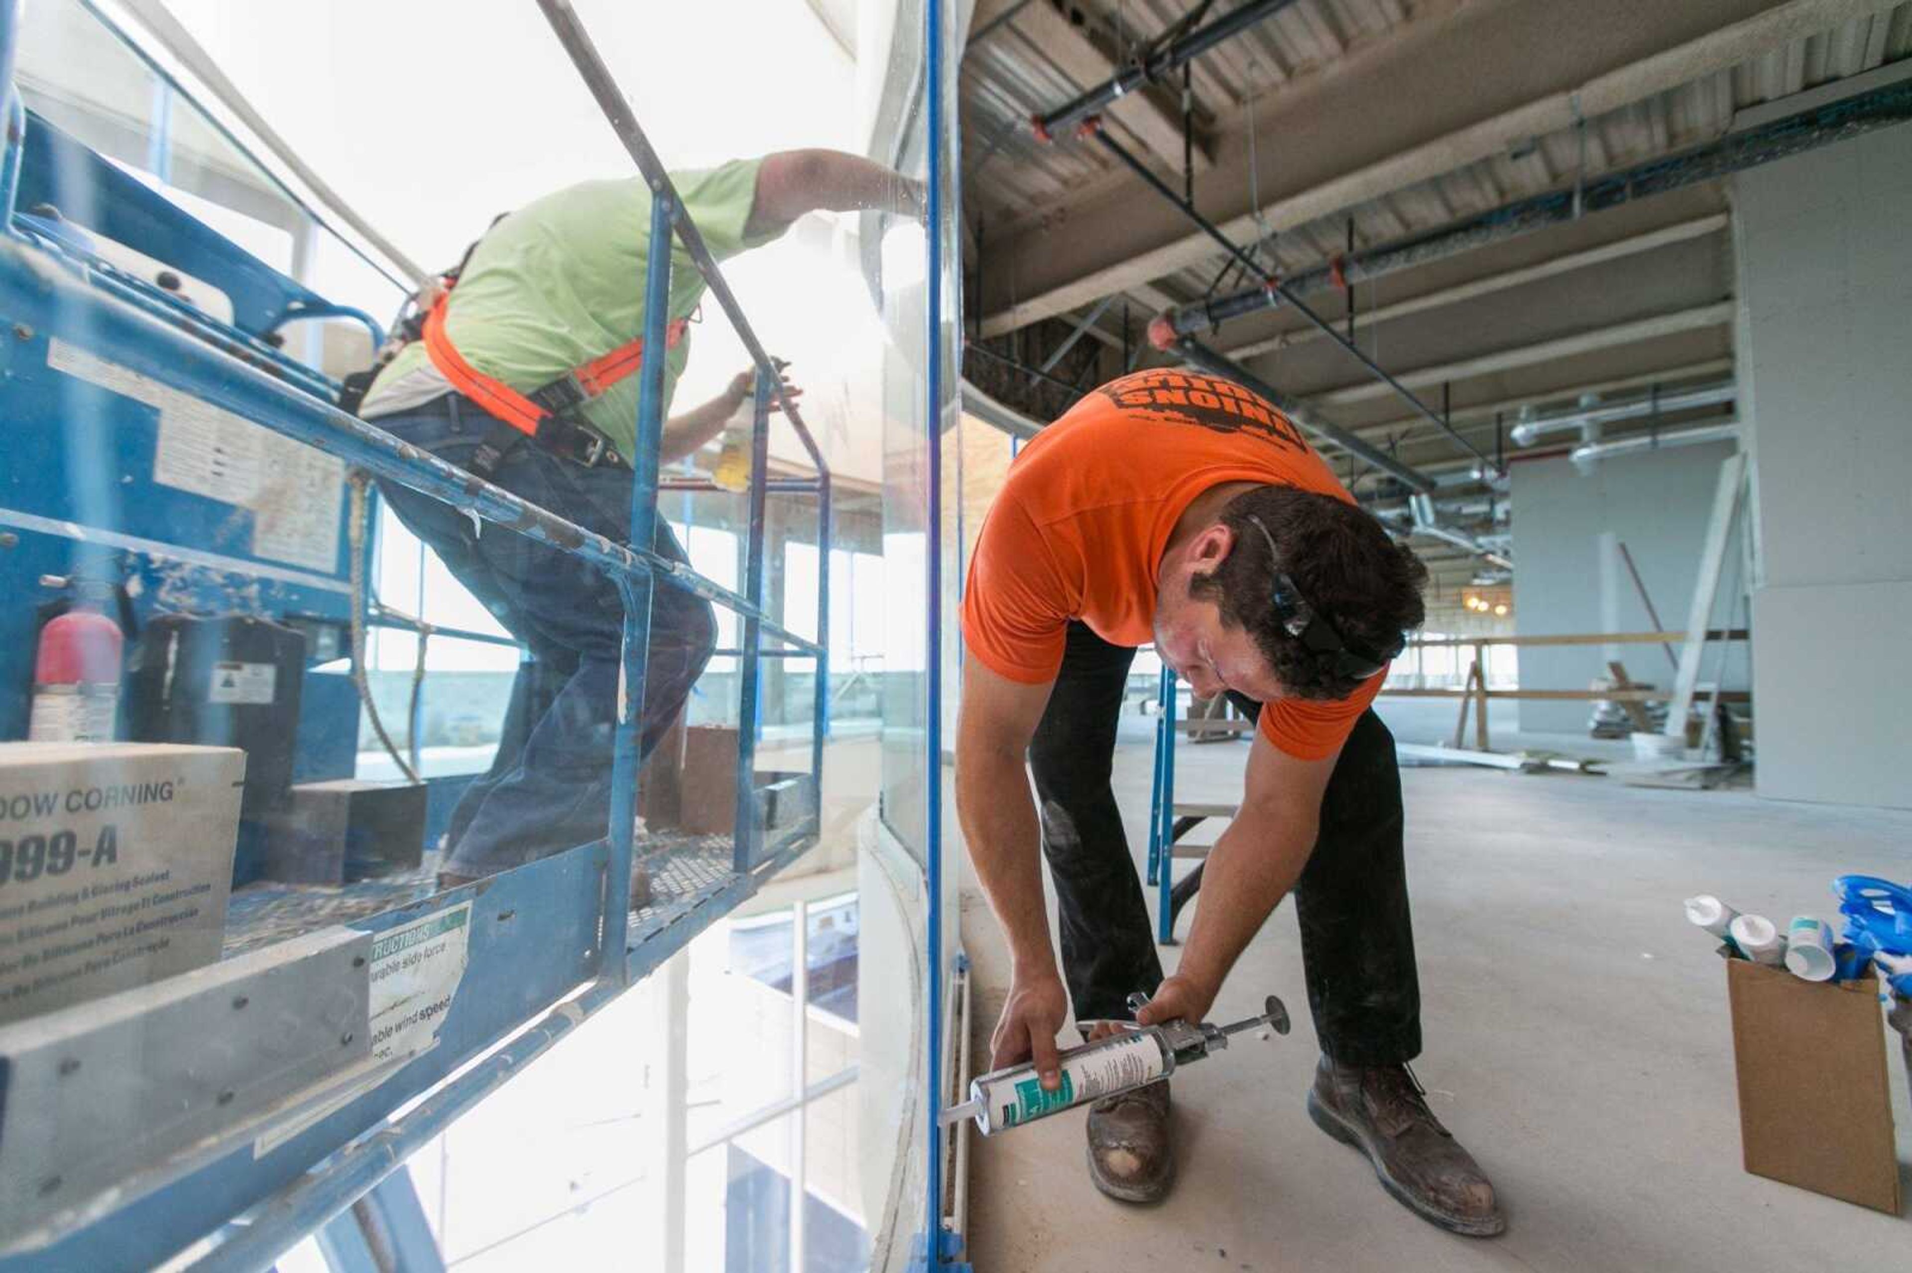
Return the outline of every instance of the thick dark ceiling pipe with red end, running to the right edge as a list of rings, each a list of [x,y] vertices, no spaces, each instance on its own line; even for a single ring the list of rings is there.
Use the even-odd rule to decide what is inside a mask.
[[[1610,172],[1577,189],[1568,187],[1518,199],[1453,226],[1348,252],[1315,270],[1291,273],[1283,279],[1281,291],[1250,287],[1229,296],[1178,306],[1151,319],[1149,340],[1157,348],[1164,348],[1176,336],[1212,331],[1226,319],[1277,310],[1289,304],[1296,292],[1319,292],[1340,283],[1367,283],[1398,270],[1516,239],[1648,195],[1711,182],[1906,119],[1912,119],[1912,84],[1906,82],[1830,101],[1759,128],[1728,134],[1709,145]]]

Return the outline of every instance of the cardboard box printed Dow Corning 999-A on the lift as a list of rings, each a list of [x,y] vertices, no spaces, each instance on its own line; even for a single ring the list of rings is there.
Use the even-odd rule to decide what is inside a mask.
[[[0,1021],[220,958],[245,753],[0,744]]]

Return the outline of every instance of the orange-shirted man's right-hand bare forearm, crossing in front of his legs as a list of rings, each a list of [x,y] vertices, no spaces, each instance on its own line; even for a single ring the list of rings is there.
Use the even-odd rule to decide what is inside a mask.
[[[1228,971],[1308,866],[1338,755],[1296,761],[1254,732],[1241,812],[1208,851],[1182,963],[1138,1015],[1141,1025],[1208,1015]]]

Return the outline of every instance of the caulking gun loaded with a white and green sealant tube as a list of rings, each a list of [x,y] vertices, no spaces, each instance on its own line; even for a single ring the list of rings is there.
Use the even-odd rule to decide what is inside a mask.
[[[1128,1009],[1141,1011],[1147,1002],[1149,996],[1132,994]],[[1019,1128],[1084,1101],[1099,1101],[1145,1088],[1157,1078],[1168,1078],[1180,1065],[1222,1051],[1228,1047],[1229,1034],[1260,1028],[1273,1028],[1275,1034],[1289,1032],[1289,1009],[1271,994],[1260,1017],[1233,1025],[1214,1026],[1206,1021],[1191,1025],[1176,1019],[1153,1026],[1134,1026],[1080,1047],[1065,1047],[1057,1057],[1061,1082],[1055,1091],[1044,1091],[1036,1078],[1036,1067],[1029,1061],[990,1070],[969,1082],[967,1101],[943,1111],[943,1126],[975,1118],[983,1135],[994,1135],[1004,1128]]]

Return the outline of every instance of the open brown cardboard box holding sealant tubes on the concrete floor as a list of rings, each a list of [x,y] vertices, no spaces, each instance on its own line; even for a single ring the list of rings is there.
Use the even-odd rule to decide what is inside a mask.
[[[1878,982],[1799,981],[1728,960],[1727,996],[1746,1170],[1897,1216]]]

